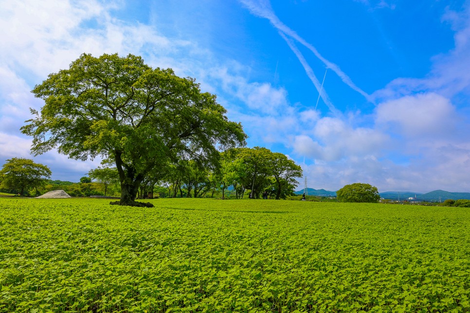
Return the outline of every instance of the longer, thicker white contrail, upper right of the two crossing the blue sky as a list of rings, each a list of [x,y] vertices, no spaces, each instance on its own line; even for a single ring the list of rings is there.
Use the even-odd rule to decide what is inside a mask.
[[[288,35],[289,37],[295,39],[298,41],[300,44],[304,45],[308,50],[313,52],[317,58],[319,58],[326,66],[327,69],[333,70],[346,84],[347,86],[351,87],[353,90],[359,92],[364,98],[366,98],[367,101],[372,102],[371,96],[368,95],[365,91],[363,91],[361,88],[357,87],[356,84],[354,84],[349,78],[349,76],[344,73],[340,67],[333,62],[328,61],[325,59],[318,51],[317,49],[309,44],[304,38],[301,36],[297,35],[295,31],[290,29],[287,25],[285,25],[275,14],[274,11],[272,10],[271,3],[269,0],[258,0],[258,1],[253,1],[253,0],[239,0],[242,4],[244,4],[248,10],[253,15],[256,15],[258,17],[263,17],[267,18],[271,24],[280,32],[285,35]],[[294,52],[295,53],[295,52]]]

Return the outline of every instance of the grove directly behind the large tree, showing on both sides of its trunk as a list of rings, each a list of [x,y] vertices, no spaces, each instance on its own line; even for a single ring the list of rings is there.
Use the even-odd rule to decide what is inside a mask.
[[[119,181],[115,168],[100,167],[89,172],[89,176],[105,186]],[[243,198],[246,191],[259,198],[266,192],[275,199],[284,199],[293,194],[298,185],[296,178],[302,177],[302,169],[282,153],[273,153],[267,148],[233,148],[220,154],[219,166],[205,166],[198,160],[181,160],[168,163],[145,175],[137,197],[152,198],[157,186],[167,189],[170,197],[213,197],[232,187],[236,198]]]

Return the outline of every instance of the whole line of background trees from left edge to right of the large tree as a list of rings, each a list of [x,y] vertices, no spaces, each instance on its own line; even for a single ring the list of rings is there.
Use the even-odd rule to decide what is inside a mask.
[[[45,165],[15,157],[7,160],[0,171],[0,188],[19,191],[21,195],[33,189],[38,194],[39,190],[50,191],[57,187],[73,195],[102,194],[93,185],[94,180],[103,186],[103,194],[107,195],[108,188],[119,182],[119,173],[112,167],[90,170],[89,177],[80,178],[78,184],[54,184],[47,179],[51,174]],[[224,198],[226,190],[232,187],[236,198],[243,198],[248,192],[253,198],[266,193],[272,198],[284,199],[293,194],[298,185],[295,178],[301,176],[301,167],[284,154],[263,147],[234,148],[221,153],[217,168],[205,167],[196,160],[182,160],[149,172],[139,186],[137,197],[153,198],[155,191],[164,188],[169,197],[214,197],[219,191]]]

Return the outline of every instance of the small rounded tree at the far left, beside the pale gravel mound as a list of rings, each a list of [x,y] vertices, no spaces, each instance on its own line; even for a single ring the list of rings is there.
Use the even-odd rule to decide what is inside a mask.
[[[19,190],[23,195],[28,189],[45,185],[51,174],[46,165],[27,158],[13,157],[6,160],[0,170],[0,183],[3,188]]]

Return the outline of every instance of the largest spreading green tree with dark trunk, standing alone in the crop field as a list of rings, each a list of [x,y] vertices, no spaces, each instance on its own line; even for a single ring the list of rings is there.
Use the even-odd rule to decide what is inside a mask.
[[[32,92],[45,102],[21,128],[33,136],[32,152],[57,147],[73,159],[109,158],[121,205],[138,205],[145,175],[168,158],[216,164],[218,149],[245,144],[242,126],[227,119],[215,95],[132,54],[82,54]]]

